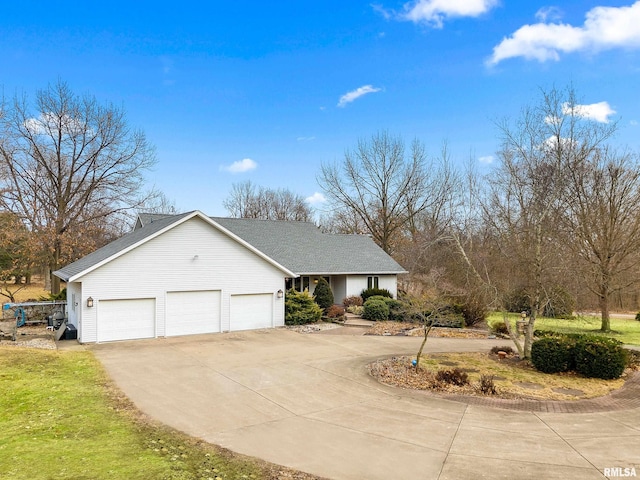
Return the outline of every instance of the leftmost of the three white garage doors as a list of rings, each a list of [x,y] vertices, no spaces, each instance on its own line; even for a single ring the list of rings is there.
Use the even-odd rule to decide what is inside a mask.
[[[97,308],[99,342],[155,337],[155,299],[100,300]]]

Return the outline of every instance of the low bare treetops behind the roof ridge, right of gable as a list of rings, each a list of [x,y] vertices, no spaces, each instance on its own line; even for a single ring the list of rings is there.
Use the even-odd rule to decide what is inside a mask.
[[[258,187],[250,181],[234,183],[222,204],[236,218],[303,222],[313,219],[313,209],[302,196],[287,189]]]

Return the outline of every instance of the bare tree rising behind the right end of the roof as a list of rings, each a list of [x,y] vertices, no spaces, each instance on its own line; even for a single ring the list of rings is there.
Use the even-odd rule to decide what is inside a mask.
[[[393,253],[405,233],[417,230],[438,192],[447,191],[445,168],[428,159],[418,140],[407,153],[402,138],[380,132],[359,140],[342,163],[322,165],[318,183],[342,219],[357,217],[375,242]]]

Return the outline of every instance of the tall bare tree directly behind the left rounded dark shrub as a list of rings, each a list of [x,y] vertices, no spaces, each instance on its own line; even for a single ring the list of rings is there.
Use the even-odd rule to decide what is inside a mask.
[[[499,128],[500,166],[489,179],[486,213],[500,235],[503,256],[512,260],[529,292],[523,345],[529,358],[535,320],[548,301],[557,265],[554,242],[569,193],[569,173],[573,165],[596,154],[616,126],[585,118],[573,89],[554,88],[543,91],[540,103],[525,108],[514,124],[503,122]]]

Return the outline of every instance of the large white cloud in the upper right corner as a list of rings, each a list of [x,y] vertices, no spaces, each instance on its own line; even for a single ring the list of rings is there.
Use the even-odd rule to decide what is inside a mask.
[[[540,23],[524,25],[493,49],[488,65],[524,57],[527,60],[559,60],[561,53],[599,52],[614,48],[640,47],[640,0],[626,7],[595,7],[586,14],[584,25],[546,23],[547,14],[538,11]]]

